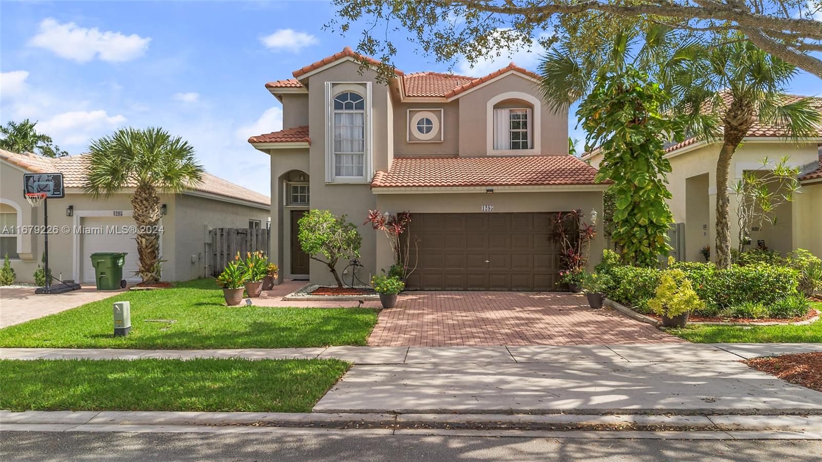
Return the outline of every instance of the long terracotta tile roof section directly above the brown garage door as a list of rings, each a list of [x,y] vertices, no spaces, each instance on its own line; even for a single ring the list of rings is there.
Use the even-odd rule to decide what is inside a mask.
[[[395,157],[372,187],[545,186],[596,184],[589,164],[572,155]]]

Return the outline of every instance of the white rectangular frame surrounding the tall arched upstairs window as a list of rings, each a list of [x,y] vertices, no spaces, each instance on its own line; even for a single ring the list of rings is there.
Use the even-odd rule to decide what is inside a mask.
[[[334,97],[345,91],[353,91],[365,99],[365,140],[363,176],[343,177],[335,175],[334,158]],[[363,95],[363,93],[365,95]],[[326,183],[363,184],[374,176],[372,160],[372,82],[326,82]]]

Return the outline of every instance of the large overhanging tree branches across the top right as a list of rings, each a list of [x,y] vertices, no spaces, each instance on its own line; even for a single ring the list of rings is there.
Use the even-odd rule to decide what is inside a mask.
[[[358,49],[391,62],[388,32],[398,26],[441,62],[477,62],[539,41],[549,48],[573,34],[586,17],[619,16],[640,27],[669,25],[694,35],[745,35],[753,44],[822,77],[822,0],[334,0],[339,19],[330,29],[347,32],[367,21]],[[578,37],[585,40],[586,37]]]

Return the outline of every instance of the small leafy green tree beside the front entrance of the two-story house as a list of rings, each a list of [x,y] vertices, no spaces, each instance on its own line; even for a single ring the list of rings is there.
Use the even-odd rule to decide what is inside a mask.
[[[312,260],[321,261],[328,266],[334,275],[337,287],[343,287],[343,281],[337,274],[337,261],[340,258],[350,260],[359,256],[359,247],[363,237],[353,223],[345,221],[345,215],[337,218],[328,210],[311,210],[298,221],[302,251]],[[318,256],[325,256],[322,260]]]

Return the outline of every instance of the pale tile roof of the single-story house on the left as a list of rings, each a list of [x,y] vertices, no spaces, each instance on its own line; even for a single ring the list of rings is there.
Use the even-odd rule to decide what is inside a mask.
[[[17,154],[8,150],[0,150],[0,159],[17,165],[31,173],[62,173],[64,187],[82,187],[85,180],[85,170],[88,164],[87,155],[70,155],[51,159],[32,153]],[[133,186],[133,185],[132,185]],[[245,187],[228,182],[223,178],[215,177],[211,173],[204,173],[202,181],[189,187],[192,191],[207,192],[217,196],[231,197],[243,201],[256,202],[270,206],[269,196],[254,192]]]

